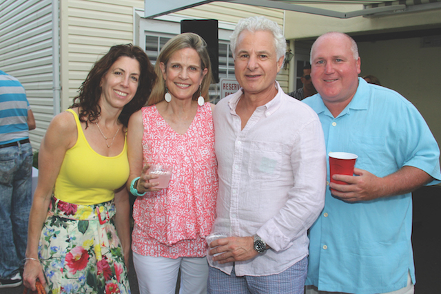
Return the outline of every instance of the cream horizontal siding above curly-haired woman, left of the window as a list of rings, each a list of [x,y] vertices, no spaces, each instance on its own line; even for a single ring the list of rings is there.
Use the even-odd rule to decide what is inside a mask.
[[[61,109],[72,105],[92,65],[112,45],[133,42],[133,9],[144,1],[69,0],[63,5]]]

